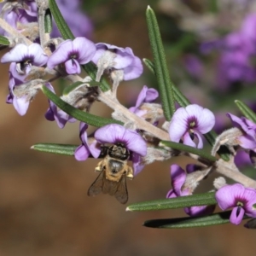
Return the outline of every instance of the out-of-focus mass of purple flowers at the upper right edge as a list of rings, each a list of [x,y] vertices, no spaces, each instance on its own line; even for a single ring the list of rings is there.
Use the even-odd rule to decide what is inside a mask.
[[[211,49],[218,49],[220,52],[217,78],[220,90],[227,90],[230,84],[237,82],[255,82],[255,26],[256,14],[252,13],[245,17],[239,31],[230,32],[224,38],[201,45],[203,53],[207,54]]]

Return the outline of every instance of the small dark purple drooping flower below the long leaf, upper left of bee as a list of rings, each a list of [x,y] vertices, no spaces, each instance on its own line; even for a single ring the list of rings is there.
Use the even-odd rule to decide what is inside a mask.
[[[55,93],[54,88],[51,86],[49,88],[52,92]],[[45,119],[49,121],[56,121],[57,125],[62,129],[64,126],[69,123],[74,123],[77,119],[74,119],[68,113],[64,112],[61,109],[58,109],[54,102],[49,101],[49,108],[47,112],[44,114]]]

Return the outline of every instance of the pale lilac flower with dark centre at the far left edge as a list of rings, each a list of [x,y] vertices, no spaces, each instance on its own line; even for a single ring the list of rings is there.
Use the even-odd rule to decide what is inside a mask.
[[[2,63],[16,62],[16,68],[12,72],[19,75],[29,73],[32,66],[44,66],[47,61],[48,55],[44,54],[40,44],[17,44],[1,59]]]

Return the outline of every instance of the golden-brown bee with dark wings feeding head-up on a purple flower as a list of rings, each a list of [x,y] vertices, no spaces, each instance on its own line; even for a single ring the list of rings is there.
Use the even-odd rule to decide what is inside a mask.
[[[101,173],[91,184],[87,194],[90,196],[100,193],[114,195],[120,203],[125,204],[128,201],[126,177],[133,178],[133,170],[127,164],[130,151],[124,144],[117,143],[111,147],[103,147],[101,155],[105,155],[105,158],[95,169],[96,172]]]

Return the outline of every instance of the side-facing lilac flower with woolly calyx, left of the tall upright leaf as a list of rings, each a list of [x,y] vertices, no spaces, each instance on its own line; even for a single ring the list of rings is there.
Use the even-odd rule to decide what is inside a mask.
[[[109,53],[110,57],[106,59]],[[123,70],[123,80],[137,79],[143,73],[142,61],[133,54],[129,47],[121,48],[98,43],[92,61],[102,69],[102,73],[104,70]]]

